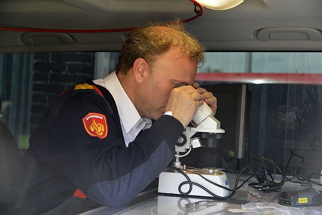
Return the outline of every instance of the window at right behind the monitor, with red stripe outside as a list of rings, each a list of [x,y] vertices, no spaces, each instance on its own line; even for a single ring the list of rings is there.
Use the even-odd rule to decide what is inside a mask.
[[[320,162],[322,53],[208,52],[206,57],[196,76],[200,84],[243,83],[252,91],[251,158],[266,154],[284,170],[292,148],[306,162]],[[299,162],[293,158],[287,174],[293,175]]]

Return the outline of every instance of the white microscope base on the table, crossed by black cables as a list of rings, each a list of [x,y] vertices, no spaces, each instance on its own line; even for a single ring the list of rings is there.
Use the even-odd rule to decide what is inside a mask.
[[[202,170],[195,170],[195,169],[187,169],[187,170],[197,172],[197,173],[201,174],[203,177],[209,179],[210,181],[229,188],[227,176],[224,172],[219,172],[216,175],[215,174],[206,175],[206,174],[202,173]],[[210,190],[215,195],[218,195],[221,197],[226,197],[229,195],[228,190],[222,189],[220,187],[217,187],[217,186],[207,182],[206,180],[201,178],[199,175],[187,172],[185,170],[183,170],[183,172],[185,172],[188,175],[188,177],[190,178],[190,180],[192,182],[196,182],[196,183],[204,186],[205,188]],[[179,173],[177,171],[173,171],[170,169],[169,171],[162,172],[159,175],[158,192],[159,193],[180,194],[179,185],[184,181],[187,181],[185,176],[183,176],[181,173]],[[187,192],[188,190],[189,190],[189,184],[185,184],[181,187],[182,192]],[[212,197],[212,195],[210,195],[205,190],[203,190],[202,188],[200,188],[196,185],[192,185],[192,191],[188,195],[211,196]]]

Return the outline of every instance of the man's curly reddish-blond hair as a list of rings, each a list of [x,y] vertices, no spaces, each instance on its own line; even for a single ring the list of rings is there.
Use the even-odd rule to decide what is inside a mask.
[[[185,30],[179,21],[171,23],[153,23],[148,27],[138,28],[126,38],[116,65],[122,74],[133,66],[135,59],[144,58],[153,63],[153,57],[162,54],[172,46],[180,46],[181,50],[191,58],[196,58],[203,65],[205,48],[197,39]],[[200,66],[200,67],[201,67]]]

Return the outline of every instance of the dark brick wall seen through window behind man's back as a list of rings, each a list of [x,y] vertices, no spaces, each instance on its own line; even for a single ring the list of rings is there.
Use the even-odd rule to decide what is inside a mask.
[[[31,135],[53,99],[77,83],[93,80],[94,58],[95,52],[34,54]]]

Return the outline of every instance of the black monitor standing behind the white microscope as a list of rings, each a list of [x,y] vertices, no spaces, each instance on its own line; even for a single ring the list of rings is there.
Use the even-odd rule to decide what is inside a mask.
[[[225,130],[219,148],[211,153],[230,158],[242,159],[249,149],[249,119],[251,92],[248,85],[217,84],[204,85],[207,91],[217,98],[215,117]]]

